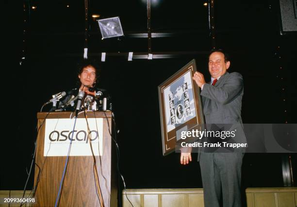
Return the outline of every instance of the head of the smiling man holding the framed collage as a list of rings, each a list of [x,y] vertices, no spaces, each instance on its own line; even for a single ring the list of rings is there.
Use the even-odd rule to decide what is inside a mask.
[[[230,61],[225,63],[225,56],[221,52],[213,52],[209,56],[208,70],[213,78],[218,78],[226,73],[230,66]]]

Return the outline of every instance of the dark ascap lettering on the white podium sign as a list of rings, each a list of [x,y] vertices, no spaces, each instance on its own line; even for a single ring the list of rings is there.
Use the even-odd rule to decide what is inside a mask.
[[[73,137],[72,137],[72,133],[74,133]],[[64,142],[67,139],[71,141],[71,138],[72,138],[72,141],[79,141],[79,142],[83,141],[85,143],[88,143],[89,139],[87,139],[87,136],[88,136],[88,133],[84,130],[61,131],[61,132],[55,130],[49,133],[49,140],[51,142]],[[91,141],[95,141],[98,137],[99,137],[98,131],[92,130],[90,132]]]

